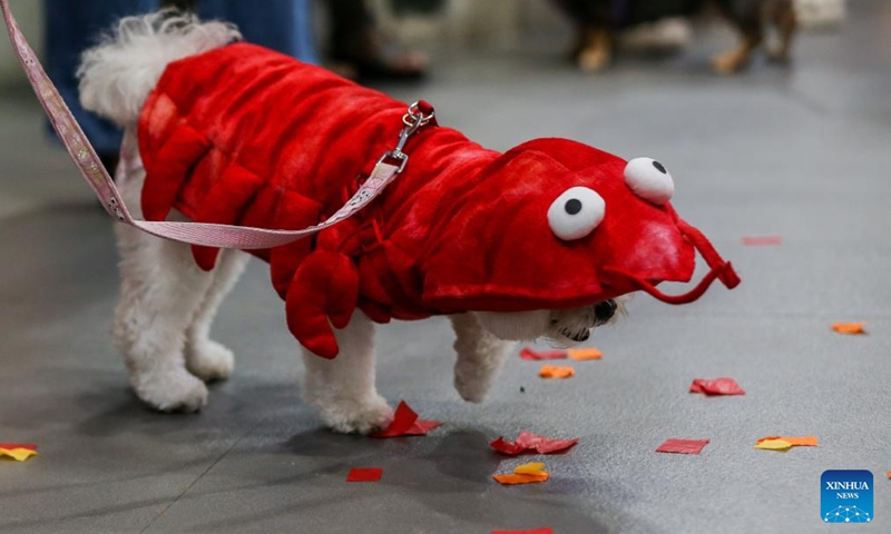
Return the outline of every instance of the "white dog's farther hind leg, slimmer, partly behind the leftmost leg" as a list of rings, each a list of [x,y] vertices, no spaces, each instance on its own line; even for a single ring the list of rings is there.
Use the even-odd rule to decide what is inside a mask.
[[[248,259],[249,256],[241,250],[221,250],[213,270],[213,281],[186,329],[186,367],[204,382],[228,378],[235,365],[232,350],[210,339],[210,324]]]

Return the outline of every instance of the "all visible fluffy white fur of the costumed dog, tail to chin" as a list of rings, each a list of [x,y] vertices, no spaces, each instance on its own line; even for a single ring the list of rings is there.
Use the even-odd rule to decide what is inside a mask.
[[[165,66],[237,38],[231,26],[169,12],[124,19],[115,34],[86,52],[81,101],[124,126],[125,142],[135,144],[139,110]],[[118,184],[137,217],[144,179],[144,169],[135,166]],[[183,220],[178,214],[172,218]],[[247,255],[226,250],[214,271],[205,273],[193,261],[188,245],[126,225],[117,227],[117,237],[121,288],[112,332],[134,389],[157,409],[197,411],[207,403],[205,383],[227,378],[233,369],[232,352],[208,335]],[[586,307],[453,316],[458,393],[470,402],[483,399],[513,346],[509,339],[548,336],[568,342],[595,326],[595,315]],[[304,350],[306,402],[337,432],[368,433],[385,426],[392,409],[374,386],[374,325],[356,312],[336,338],[340,355],[333,360]]]

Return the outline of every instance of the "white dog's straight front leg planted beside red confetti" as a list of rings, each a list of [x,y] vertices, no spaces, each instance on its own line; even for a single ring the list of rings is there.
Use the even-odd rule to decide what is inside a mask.
[[[304,399],[335,432],[368,434],[386,426],[393,411],[374,387],[374,325],[356,310],[334,337],[340,347],[334,359],[302,348]]]

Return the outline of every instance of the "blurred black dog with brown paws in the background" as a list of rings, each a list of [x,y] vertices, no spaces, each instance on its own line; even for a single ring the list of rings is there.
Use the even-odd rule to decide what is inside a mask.
[[[689,17],[706,4],[717,7],[741,33],[738,48],[716,56],[717,72],[735,72],[745,67],[763,43],[767,28],[776,27],[780,47],[768,52],[771,59],[790,58],[796,20],[792,0],[555,0],[578,26],[578,41],[572,58],[584,71],[606,67],[611,57],[615,33],[631,26],[668,17]]]

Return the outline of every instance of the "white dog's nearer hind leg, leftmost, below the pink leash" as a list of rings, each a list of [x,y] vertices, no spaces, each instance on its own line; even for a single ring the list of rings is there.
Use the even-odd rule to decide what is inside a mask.
[[[136,217],[143,179],[140,169],[118,184]],[[127,225],[116,233],[121,287],[112,335],[130,383],[157,409],[195,412],[207,402],[207,387],[186,370],[185,332],[214,277],[195,265],[188,245]]]

